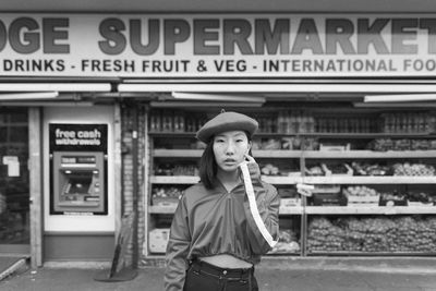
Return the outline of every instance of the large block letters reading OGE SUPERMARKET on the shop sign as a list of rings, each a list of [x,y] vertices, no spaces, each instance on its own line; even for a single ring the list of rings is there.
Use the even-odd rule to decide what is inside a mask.
[[[0,20],[0,51],[70,53],[69,17]],[[218,54],[436,54],[436,19],[313,17],[107,17],[98,23],[95,45],[108,56],[130,48],[138,56],[178,54],[189,45],[194,56]],[[417,44],[426,37],[426,47]]]

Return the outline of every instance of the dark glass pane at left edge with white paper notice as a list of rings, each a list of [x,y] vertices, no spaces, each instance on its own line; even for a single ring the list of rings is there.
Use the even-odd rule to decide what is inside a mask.
[[[29,243],[26,109],[0,108],[0,245]]]

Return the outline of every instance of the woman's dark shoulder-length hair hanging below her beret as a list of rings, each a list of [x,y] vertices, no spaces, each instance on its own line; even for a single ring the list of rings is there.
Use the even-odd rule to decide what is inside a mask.
[[[252,141],[250,134],[245,132],[249,142]],[[252,150],[250,149],[249,155],[252,156]],[[206,189],[213,189],[215,184],[215,179],[217,177],[218,165],[215,160],[214,154],[214,136],[207,143],[205,150],[203,151],[202,158],[199,159],[199,179]]]

